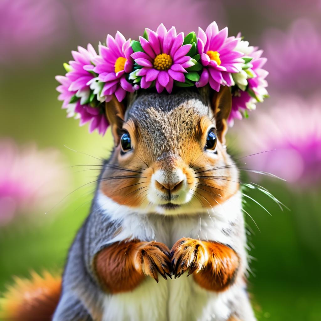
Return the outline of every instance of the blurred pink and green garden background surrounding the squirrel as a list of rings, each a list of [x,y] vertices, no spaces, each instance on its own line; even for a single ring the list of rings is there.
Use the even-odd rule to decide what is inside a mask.
[[[61,271],[89,213],[112,139],[67,119],[56,74],[77,45],[119,29],[137,38],[160,22],[188,33],[215,20],[268,58],[270,98],[235,121],[228,147],[246,194],[249,290],[259,320],[321,320],[321,2],[0,1],[0,292],[12,275]],[[264,152],[264,153],[261,153]],[[253,156],[251,154],[261,153]],[[246,163],[246,164],[245,164]]]

